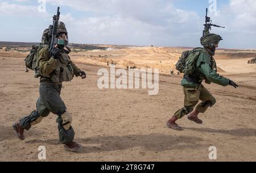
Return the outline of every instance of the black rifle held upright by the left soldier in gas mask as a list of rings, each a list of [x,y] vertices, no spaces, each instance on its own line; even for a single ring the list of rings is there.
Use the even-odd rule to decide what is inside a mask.
[[[55,45],[58,43],[57,39],[57,28],[58,23],[60,19],[60,7],[57,9],[57,15],[53,16],[53,24],[49,26],[49,31],[51,33],[51,42],[49,43],[49,57],[52,57],[52,49],[55,47]]]

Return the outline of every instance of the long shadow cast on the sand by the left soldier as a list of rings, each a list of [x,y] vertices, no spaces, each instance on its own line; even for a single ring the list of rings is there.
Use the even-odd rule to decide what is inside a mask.
[[[148,151],[164,151],[173,149],[198,149],[208,148],[208,145],[200,144],[203,138],[193,136],[172,136],[165,134],[131,135],[131,136],[97,136],[89,138],[76,138],[76,142],[82,144],[78,153],[95,153],[104,151],[117,151],[126,149],[146,149]],[[55,144],[56,140],[32,140],[31,143]]]

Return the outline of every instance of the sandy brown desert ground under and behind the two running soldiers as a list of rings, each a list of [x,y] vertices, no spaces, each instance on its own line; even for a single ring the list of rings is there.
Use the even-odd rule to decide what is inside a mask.
[[[64,83],[62,98],[73,115],[79,153],[65,151],[58,142],[56,116],[25,132],[19,141],[11,124],[35,109],[39,79],[25,73],[27,53],[0,50],[0,161],[39,161],[38,147],[46,146],[46,161],[210,161],[210,146],[217,147],[217,161],[256,161],[256,65],[247,64],[254,51],[218,50],[221,74],[240,88],[206,85],[217,104],[204,115],[203,125],[184,117],[184,130],[166,127],[166,121],[183,107],[181,75],[170,70],[183,48],[127,47],[72,53],[85,80]],[[99,57],[100,56],[100,57]],[[148,90],[97,87],[98,69],[117,67],[159,68],[159,94]],[[175,71],[176,73],[176,71]]]

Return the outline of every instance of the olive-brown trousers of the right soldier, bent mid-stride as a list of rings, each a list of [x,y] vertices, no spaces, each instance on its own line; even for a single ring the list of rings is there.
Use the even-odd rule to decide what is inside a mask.
[[[184,107],[175,112],[174,116],[177,119],[181,119],[183,116],[191,113],[195,107],[196,111],[204,113],[216,103],[216,99],[203,85],[200,85],[198,88],[183,87],[183,92],[185,95]],[[197,105],[199,100],[202,102]]]

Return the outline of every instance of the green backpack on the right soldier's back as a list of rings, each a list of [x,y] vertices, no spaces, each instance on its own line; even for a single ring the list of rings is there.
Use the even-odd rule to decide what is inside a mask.
[[[175,65],[176,70],[187,75],[193,74],[196,70],[197,59],[202,52],[207,53],[204,48],[195,48],[193,50],[184,51]]]

